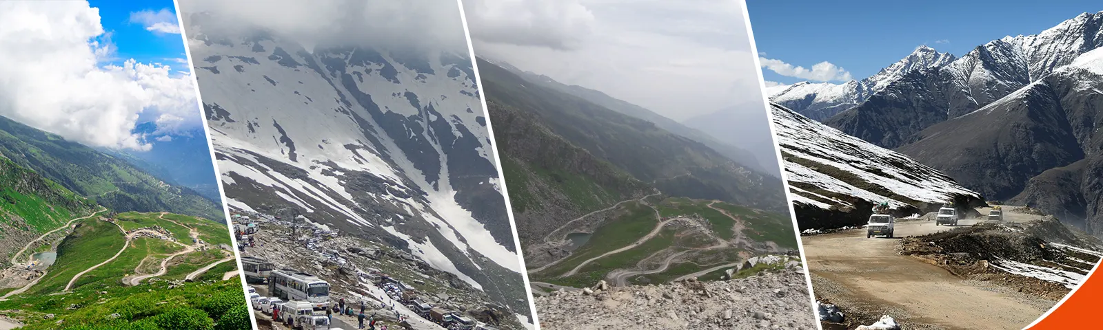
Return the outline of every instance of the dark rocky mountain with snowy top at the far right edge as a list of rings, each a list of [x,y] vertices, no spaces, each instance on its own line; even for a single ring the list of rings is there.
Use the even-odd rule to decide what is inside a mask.
[[[976,111],[915,133],[897,151],[987,198],[1030,205],[1099,234],[1101,108],[1103,48],[1096,48]]]

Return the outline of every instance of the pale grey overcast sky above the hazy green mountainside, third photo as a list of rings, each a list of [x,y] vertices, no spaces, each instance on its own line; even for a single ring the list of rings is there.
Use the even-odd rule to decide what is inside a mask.
[[[731,0],[464,0],[476,55],[674,120],[765,111],[743,4]]]

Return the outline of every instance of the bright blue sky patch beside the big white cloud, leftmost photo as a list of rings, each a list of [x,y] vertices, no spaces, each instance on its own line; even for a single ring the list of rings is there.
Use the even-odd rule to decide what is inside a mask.
[[[190,69],[186,63],[179,62],[186,61],[186,56],[172,0],[89,0],[88,3],[99,9],[100,24],[117,47],[110,63],[133,58],[139,63],[169,65],[173,70]]]

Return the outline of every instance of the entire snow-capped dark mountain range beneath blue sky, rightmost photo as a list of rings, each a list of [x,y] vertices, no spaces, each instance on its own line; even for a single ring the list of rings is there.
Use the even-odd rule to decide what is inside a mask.
[[[1036,35],[994,40],[952,61],[912,54],[909,58],[928,59],[890,66],[882,73],[895,73],[892,78],[879,79],[887,82],[866,95],[840,92],[836,96],[844,97],[816,101],[818,95],[802,98],[794,85],[773,87],[771,98],[940,169],[987,199],[1039,207],[1101,235],[1101,46],[1103,12],[1083,13]],[[938,54],[925,47],[917,53]],[[848,101],[827,101],[839,98]],[[807,99],[814,101],[793,103]],[[836,105],[847,109],[825,112]]]

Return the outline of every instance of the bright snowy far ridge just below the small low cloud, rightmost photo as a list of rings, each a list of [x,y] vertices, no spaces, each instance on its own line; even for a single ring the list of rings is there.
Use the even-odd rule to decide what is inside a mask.
[[[844,84],[804,81],[790,85],[788,88],[768,89],[767,95],[771,101],[822,121],[857,106],[911,72],[942,67],[954,59],[956,57],[950,53],[939,53],[924,45],[861,81],[850,80]]]

